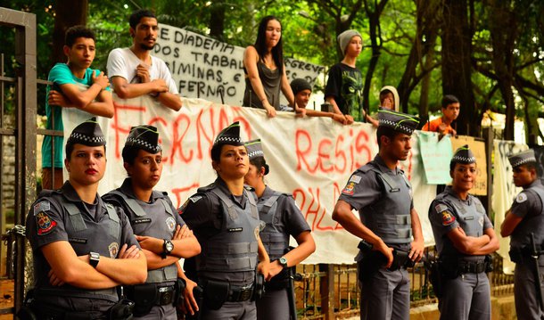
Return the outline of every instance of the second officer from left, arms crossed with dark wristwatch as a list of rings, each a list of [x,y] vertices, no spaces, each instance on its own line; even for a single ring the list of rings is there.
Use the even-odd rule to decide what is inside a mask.
[[[162,174],[157,128],[132,127],[122,156],[128,177],[120,188],[104,194],[103,200],[121,207],[127,214],[147,258],[148,269],[145,283],[128,286],[125,293],[136,302],[136,319],[176,320],[176,298],[183,290],[177,283],[178,271],[185,278],[178,260],[199,254],[201,247],[177,214],[168,193],[153,190]]]

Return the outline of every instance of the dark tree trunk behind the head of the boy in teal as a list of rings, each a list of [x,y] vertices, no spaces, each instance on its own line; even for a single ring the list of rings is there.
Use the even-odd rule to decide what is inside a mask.
[[[87,0],[57,0],[55,5],[53,48],[51,53],[52,67],[55,63],[66,62],[62,50],[64,34],[70,27],[87,24]]]

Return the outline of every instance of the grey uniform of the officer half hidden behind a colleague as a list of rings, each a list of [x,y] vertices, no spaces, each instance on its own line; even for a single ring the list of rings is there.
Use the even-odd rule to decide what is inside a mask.
[[[270,261],[284,256],[290,235],[296,238],[302,232],[311,230],[290,194],[278,193],[267,186],[257,201],[257,208],[260,220],[267,224],[260,232],[260,240],[267,249]],[[284,270],[266,283],[264,296],[257,300],[259,320],[289,320],[286,276],[287,270]]]

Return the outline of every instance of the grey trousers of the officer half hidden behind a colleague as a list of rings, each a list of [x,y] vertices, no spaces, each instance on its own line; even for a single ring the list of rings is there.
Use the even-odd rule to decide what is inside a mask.
[[[287,289],[267,290],[257,300],[258,320],[289,320],[289,293]]]

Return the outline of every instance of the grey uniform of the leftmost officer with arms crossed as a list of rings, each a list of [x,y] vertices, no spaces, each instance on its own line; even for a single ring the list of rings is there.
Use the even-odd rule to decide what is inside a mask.
[[[51,267],[41,247],[66,241],[78,256],[93,251],[108,258],[116,258],[125,243],[139,248],[121,209],[105,204],[98,194],[93,204],[81,201],[68,181],[59,190],[40,193],[27,216],[27,237],[34,257],[36,305],[33,308],[40,316],[64,313],[66,318],[82,315],[98,318],[119,300],[116,288],[52,286],[48,276]]]

